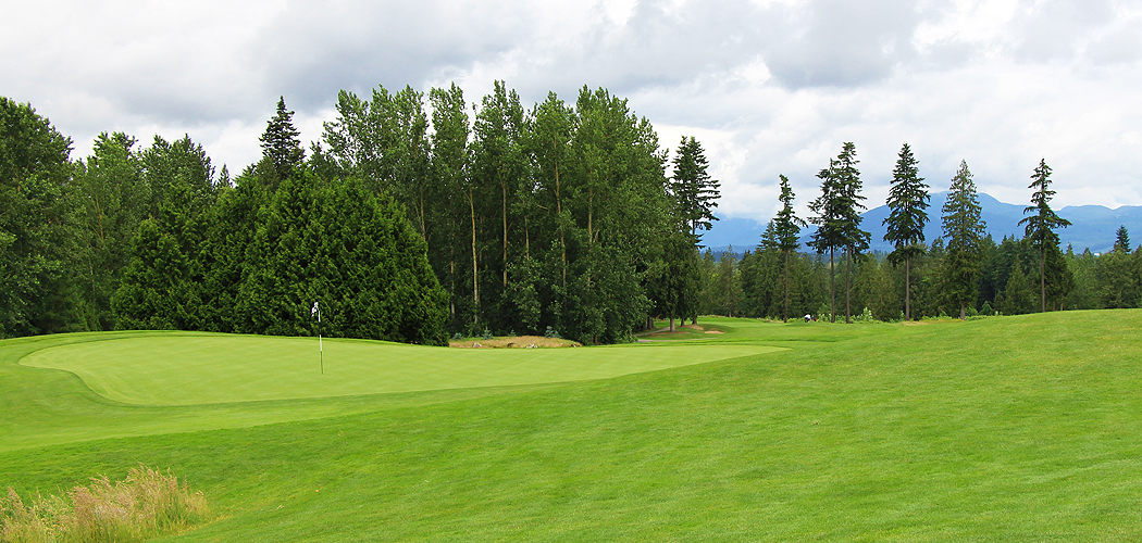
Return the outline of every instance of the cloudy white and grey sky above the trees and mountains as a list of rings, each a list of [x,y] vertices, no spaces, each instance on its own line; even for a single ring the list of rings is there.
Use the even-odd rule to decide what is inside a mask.
[[[665,147],[693,135],[719,211],[801,203],[854,141],[869,206],[908,141],[933,191],[966,160],[981,192],[1055,206],[1142,205],[1142,0],[10,2],[0,95],[90,153],[100,131],[188,133],[217,165],[256,161],[278,96],[307,143],[339,89],[505,80],[525,105],[605,87]]]

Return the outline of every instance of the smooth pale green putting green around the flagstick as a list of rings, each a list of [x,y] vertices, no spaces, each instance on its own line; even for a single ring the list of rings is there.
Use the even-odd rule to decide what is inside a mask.
[[[781,350],[757,345],[448,349],[172,332],[50,347],[21,359],[134,405],[198,405],[605,379]]]

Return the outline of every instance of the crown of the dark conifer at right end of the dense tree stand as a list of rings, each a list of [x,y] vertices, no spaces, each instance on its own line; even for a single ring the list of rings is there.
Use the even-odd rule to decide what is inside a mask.
[[[691,137],[682,137],[678,151],[674,156],[674,177],[670,180],[670,192],[674,194],[677,216],[690,226],[690,235],[694,241],[701,240],[698,230],[708,230],[717,208],[719,183],[710,179],[706,169],[706,151]]]

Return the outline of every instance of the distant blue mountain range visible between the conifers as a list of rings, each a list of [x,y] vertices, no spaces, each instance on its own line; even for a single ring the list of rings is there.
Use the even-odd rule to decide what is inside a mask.
[[[928,243],[940,236],[940,210],[948,193],[936,193],[932,195],[932,205],[928,208],[928,224],[924,228],[924,236]],[[1024,217],[1023,208],[1027,204],[1003,203],[987,194],[980,193],[980,205],[983,208],[982,217],[987,222],[988,233],[999,243],[1004,236],[1023,237],[1023,227],[1019,226],[1020,219]],[[874,251],[892,251],[892,245],[884,241],[886,232],[884,219],[888,217],[888,206],[882,205],[868,210],[861,222],[861,227],[872,234],[871,249]],[[1119,226],[1125,226],[1132,235],[1131,243],[1137,245],[1142,242],[1142,206],[1124,205],[1118,209],[1110,209],[1103,205],[1068,205],[1055,210],[1060,217],[1071,221],[1071,226],[1059,230],[1060,246],[1065,251],[1070,244],[1075,252],[1083,252],[1089,248],[1092,252],[1107,252],[1115,245],[1115,234]],[[714,252],[722,252],[733,246],[734,252],[753,250],[762,240],[765,224],[754,219],[725,218],[714,222],[714,228],[702,235],[702,244],[709,246]],[[802,243],[809,241],[809,235],[813,232],[813,226],[802,230],[805,234]],[[809,250],[805,248],[805,250]]]

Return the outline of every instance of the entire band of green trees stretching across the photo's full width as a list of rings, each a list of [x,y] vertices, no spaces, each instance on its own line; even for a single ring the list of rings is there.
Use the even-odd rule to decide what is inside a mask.
[[[812,217],[781,211],[758,246],[716,258],[701,234],[718,181],[701,144],[673,157],[605,89],[525,107],[502,82],[478,102],[341,91],[304,148],[279,100],[263,157],[231,177],[188,136],[103,133],[90,156],[30,104],[0,97],[0,337],[203,330],[442,345],[450,335],[629,341],[701,314],[896,321],[1137,307],[1142,251],[1065,252],[1035,169],[1022,240],[983,236],[966,163],[941,210],[906,144],[888,254],[868,253],[852,143],[818,175]],[[943,236],[924,240],[939,220]],[[812,224],[815,228],[810,229]],[[805,235],[809,248],[802,244]]]

